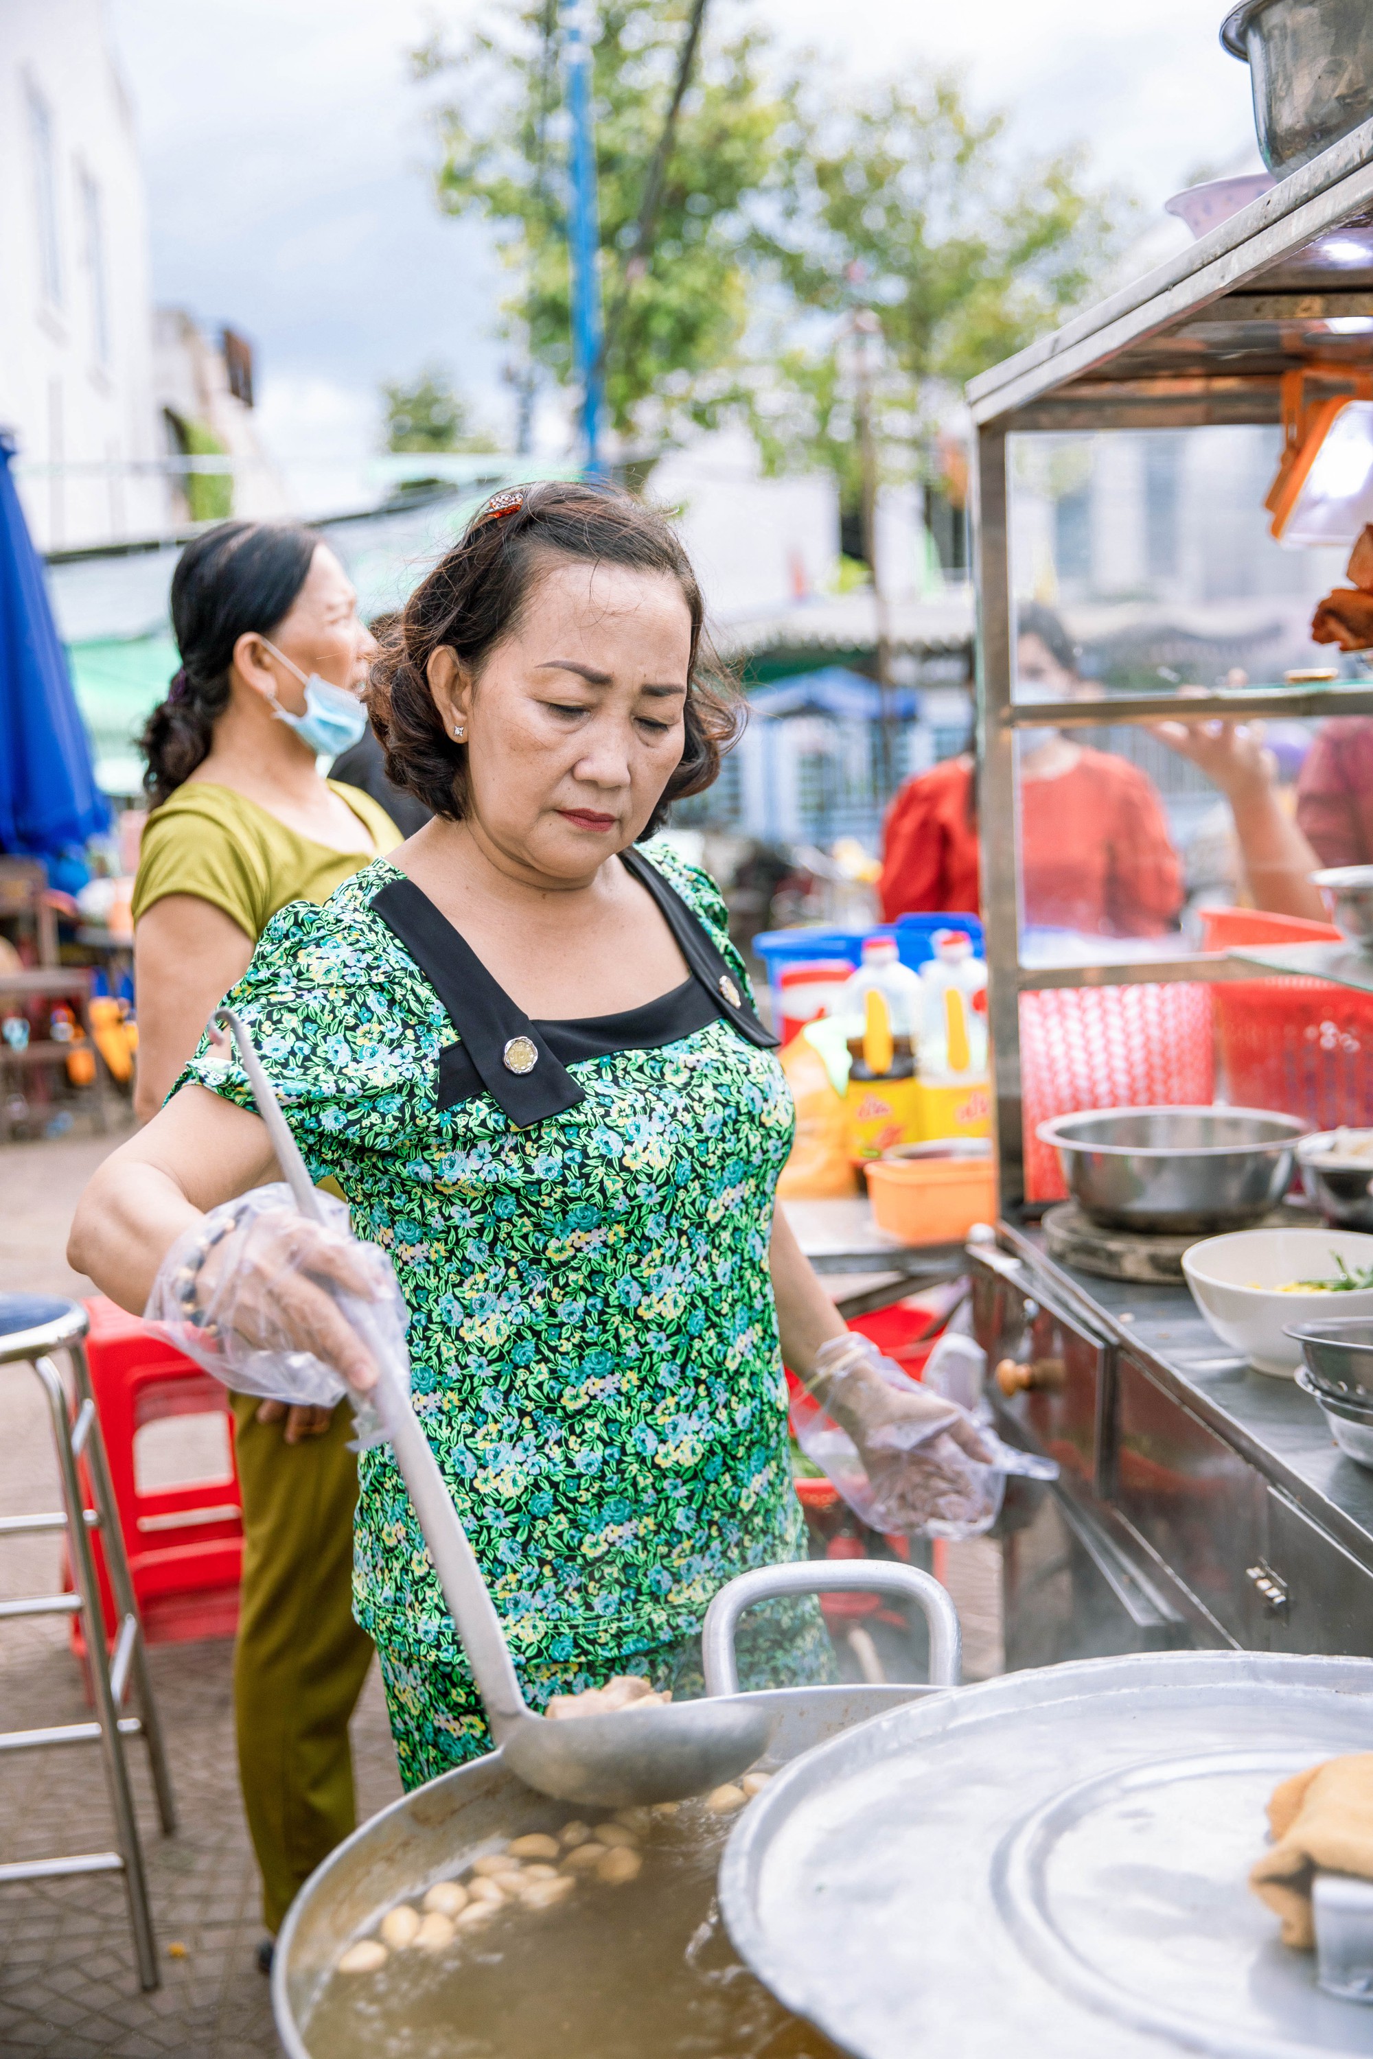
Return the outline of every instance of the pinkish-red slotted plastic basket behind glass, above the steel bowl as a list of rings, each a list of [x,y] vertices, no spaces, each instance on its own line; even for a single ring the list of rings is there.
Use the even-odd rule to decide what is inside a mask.
[[[1064,1200],[1058,1153],[1035,1137],[1081,1108],[1186,1108],[1214,1102],[1210,988],[1052,986],[1021,994],[1021,1122],[1027,1200]],[[1270,1108],[1282,1104],[1270,1102]]]

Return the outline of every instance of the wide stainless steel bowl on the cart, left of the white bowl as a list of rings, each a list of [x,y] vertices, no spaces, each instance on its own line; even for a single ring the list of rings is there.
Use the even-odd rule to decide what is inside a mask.
[[[1276,1209],[1305,1122],[1264,1108],[1099,1108],[1042,1122],[1037,1135],[1095,1223],[1206,1235]]]

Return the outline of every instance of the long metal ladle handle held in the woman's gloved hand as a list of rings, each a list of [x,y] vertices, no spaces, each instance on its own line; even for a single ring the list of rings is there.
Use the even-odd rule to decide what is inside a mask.
[[[286,1174],[296,1209],[309,1221],[323,1223],[325,1215],[319,1202],[319,1192],[315,1190],[315,1182],[307,1172],[296,1141],[286,1126],[286,1118],[282,1116],[276,1100],[276,1089],[272,1087],[272,1081],[261,1069],[261,1060],[253,1050],[253,1040],[233,1009],[216,1009],[214,1021],[233,1032],[239,1056],[243,1058],[243,1071],[247,1073],[253,1100],[257,1102],[257,1114],[268,1124],[268,1137],[272,1139],[276,1161]],[[381,1375],[377,1386],[368,1394],[356,1394],[356,1400],[371,1402],[375,1406],[381,1427],[387,1433],[395,1454],[395,1464],[401,1470],[406,1491],[420,1522],[420,1530],[424,1532],[428,1555],[434,1561],[434,1573],[438,1575],[443,1598],[449,1604],[449,1614],[453,1616],[457,1635],[463,1641],[463,1651],[467,1653],[478,1695],[486,1705],[492,1734],[500,1744],[502,1734],[506,1734],[521,1717],[531,1717],[531,1709],[525,1705],[525,1697],[521,1695],[519,1678],[511,1662],[511,1647],[504,1641],[500,1616],[496,1614],[490,1590],[482,1577],[482,1567],[476,1561],[471,1544],[467,1542],[467,1532],[461,1526],[449,1489],[438,1472],[438,1460],[434,1458],[430,1441],[410,1406],[410,1396],[399,1380],[389,1377],[387,1347],[377,1332],[377,1324],[366,1301],[360,1301],[356,1295],[344,1295],[342,1301],[346,1303],[344,1314],[366,1342]]]

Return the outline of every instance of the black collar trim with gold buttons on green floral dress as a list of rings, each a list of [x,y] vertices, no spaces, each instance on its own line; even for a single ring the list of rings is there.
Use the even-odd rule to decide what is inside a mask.
[[[568,1065],[618,1050],[675,1044],[704,1030],[716,1015],[733,1023],[751,1044],[778,1042],[743,1001],[731,1003],[723,982],[729,982],[735,994],[739,986],[698,916],[646,859],[632,850],[622,852],[622,859],[653,894],[692,978],[669,994],[620,1015],[531,1021],[414,879],[391,879],[373,896],[373,908],[424,972],[461,1038],[461,1044],[447,1044],[438,1054],[438,1108],[455,1108],[486,1091],[517,1128],[529,1128],[545,1116],[566,1114],[585,1100]],[[527,1040],[535,1054],[525,1071],[506,1065],[506,1052],[519,1040]],[[523,1062],[529,1050],[517,1050],[515,1056]]]

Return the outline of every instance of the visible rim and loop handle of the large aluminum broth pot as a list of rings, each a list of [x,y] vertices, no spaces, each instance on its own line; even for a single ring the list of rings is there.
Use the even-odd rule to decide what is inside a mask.
[[[729,1690],[735,1682],[733,1633],[739,1614],[776,1594],[823,1587],[885,1592],[914,1602],[930,1631],[930,1686],[815,1686],[741,1695],[776,1717],[768,1758],[786,1765],[840,1730],[918,1697],[941,1692],[959,1678],[959,1629],[949,1596],[928,1573],[885,1559],[803,1561],[764,1567],[731,1581],[710,1606],[702,1637],[706,1686]],[[632,1721],[632,1715],[626,1717]],[[434,1880],[459,1872],[469,1853],[492,1839],[545,1830],[545,1795],[533,1793],[504,1765],[500,1752],[445,1773],[426,1787],[393,1802],[329,1853],[296,1894],[282,1925],[272,1962],[272,2008],[288,2059],[329,2059],[311,2045],[311,2010],[342,1952],[395,1900],[422,1894]],[[683,1935],[683,1948],[688,1938]]]

